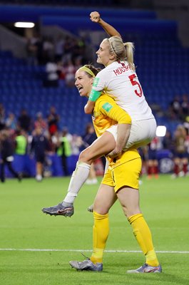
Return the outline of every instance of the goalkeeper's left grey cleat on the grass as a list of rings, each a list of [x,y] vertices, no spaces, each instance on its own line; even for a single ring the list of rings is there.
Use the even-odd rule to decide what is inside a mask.
[[[84,261],[69,261],[69,264],[72,268],[75,268],[77,270],[86,270],[86,271],[102,271],[103,270],[103,264],[102,263],[96,263],[93,264],[93,262],[90,259],[84,260]]]

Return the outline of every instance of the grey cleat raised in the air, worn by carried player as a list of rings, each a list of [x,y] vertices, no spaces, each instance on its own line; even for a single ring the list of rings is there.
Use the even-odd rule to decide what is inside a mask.
[[[64,217],[71,217],[74,213],[74,208],[72,203],[63,202],[57,204],[53,207],[43,208],[42,212],[45,214],[50,214],[51,216],[64,216]]]

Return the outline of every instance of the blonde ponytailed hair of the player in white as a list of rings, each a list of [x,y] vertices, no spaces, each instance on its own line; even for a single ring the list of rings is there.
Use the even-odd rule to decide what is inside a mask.
[[[123,43],[119,36],[111,36],[106,38],[110,46],[110,52],[114,53],[117,61],[128,61],[129,66],[133,71],[136,70],[133,63],[134,44],[131,42]]]

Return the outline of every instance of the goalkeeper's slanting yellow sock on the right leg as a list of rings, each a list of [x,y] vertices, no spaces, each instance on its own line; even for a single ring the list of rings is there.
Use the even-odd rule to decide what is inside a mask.
[[[145,262],[150,266],[158,266],[159,262],[153,248],[152,235],[143,214],[133,214],[128,218],[128,222],[133,227],[133,234],[145,255]]]

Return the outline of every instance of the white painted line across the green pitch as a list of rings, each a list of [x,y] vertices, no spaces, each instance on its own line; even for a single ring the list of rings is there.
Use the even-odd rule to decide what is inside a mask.
[[[90,249],[0,249],[1,252],[92,252]],[[105,252],[115,253],[115,252],[125,252],[125,253],[138,253],[140,250],[106,250]],[[179,252],[179,251],[155,251],[160,254],[189,254],[189,252]]]

